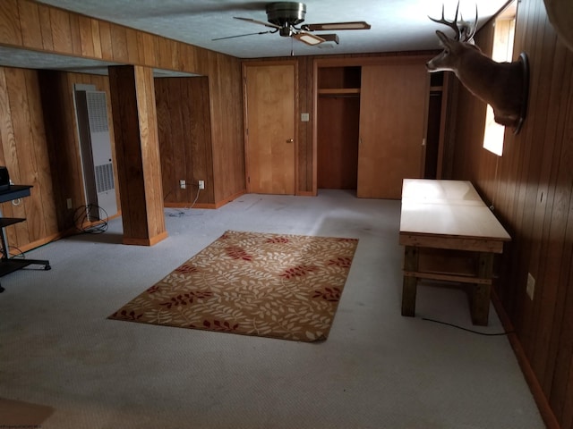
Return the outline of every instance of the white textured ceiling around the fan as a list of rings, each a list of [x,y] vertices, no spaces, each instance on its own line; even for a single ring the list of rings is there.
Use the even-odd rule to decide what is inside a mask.
[[[244,0],[38,0],[75,13],[140,29],[237,58],[287,55],[341,55],[439,49],[436,29],[452,33],[432,22],[440,18],[442,4],[447,19],[453,19],[458,0],[306,0],[304,24],[366,21],[370,29],[312,31],[312,35],[336,33],[339,43],[309,46],[292,37],[281,37],[268,22],[269,1]],[[459,0],[465,21],[479,15],[478,29],[500,12],[508,0]],[[237,20],[248,18],[257,22]],[[257,34],[263,32],[265,34]],[[238,37],[236,37],[238,36]],[[231,38],[229,38],[231,37]],[[217,38],[223,38],[214,40]],[[90,68],[98,64],[57,55],[33,55],[0,48],[0,63],[27,68],[61,70]],[[66,64],[69,62],[70,64]],[[52,64],[49,66],[49,64]],[[48,65],[48,66],[47,66]],[[69,67],[66,67],[68,66]],[[100,64],[105,65],[105,64]]]

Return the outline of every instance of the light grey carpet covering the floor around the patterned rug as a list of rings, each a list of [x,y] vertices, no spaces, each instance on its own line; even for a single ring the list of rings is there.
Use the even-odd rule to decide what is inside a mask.
[[[0,397],[43,404],[42,429],[541,429],[506,337],[475,329],[466,294],[418,287],[400,314],[400,202],[244,195],[217,210],[165,210],[167,240],[99,235],[30,252],[52,269],[0,280]],[[225,231],[359,239],[320,344],[108,320]],[[483,332],[502,327],[493,307]]]

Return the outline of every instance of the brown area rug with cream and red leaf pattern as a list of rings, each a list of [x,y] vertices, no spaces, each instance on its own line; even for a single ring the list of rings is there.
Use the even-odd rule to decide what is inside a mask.
[[[324,341],[357,239],[227,231],[110,319]]]

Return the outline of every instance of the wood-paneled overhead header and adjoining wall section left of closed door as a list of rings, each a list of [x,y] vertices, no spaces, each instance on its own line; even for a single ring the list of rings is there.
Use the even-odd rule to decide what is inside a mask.
[[[207,76],[210,116],[215,119],[211,121],[213,195],[219,203],[244,192],[241,62],[237,58],[30,0],[3,0],[0,45]]]

